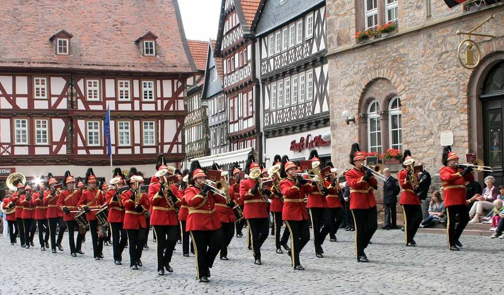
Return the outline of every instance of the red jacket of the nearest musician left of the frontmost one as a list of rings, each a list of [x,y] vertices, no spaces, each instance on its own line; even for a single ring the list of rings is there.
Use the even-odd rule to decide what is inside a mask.
[[[171,198],[170,196],[159,195],[159,190],[161,184],[152,184],[149,186],[149,201],[151,204],[151,225],[177,225],[177,214],[175,213],[175,208],[168,205],[166,198]],[[151,190],[152,189],[152,190]],[[181,206],[182,201],[180,201],[180,192],[175,185],[170,186],[171,192],[177,197],[175,205]]]

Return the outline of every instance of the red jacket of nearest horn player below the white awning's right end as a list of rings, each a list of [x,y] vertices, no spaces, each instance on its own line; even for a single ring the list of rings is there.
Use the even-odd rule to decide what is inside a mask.
[[[269,218],[266,202],[259,193],[253,195],[250,190],[256,186],[256,182],[249,178],[240,182],[240,198],[243,199],[243,215],[245,219]]]

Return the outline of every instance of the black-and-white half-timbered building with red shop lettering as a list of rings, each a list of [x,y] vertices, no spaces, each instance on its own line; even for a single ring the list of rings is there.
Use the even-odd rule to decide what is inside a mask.
[[[330,131],[325,1],[263,0],[252,30],[267,166],[275,154],[304,159],[314,148],[329,160],[330,142],[322,139]]]

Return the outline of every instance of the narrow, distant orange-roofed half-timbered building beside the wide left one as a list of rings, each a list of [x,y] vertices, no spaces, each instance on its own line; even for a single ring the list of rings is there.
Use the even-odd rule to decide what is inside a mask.
[[[197,72],[187,79],[187,116],[184,120],[185,159],[184,167],[192,158],[210,155],[208,110],[202,103],[207,67],[208,41],[188,40],[189,49]],[[191,84],[190,84],[191,83]]]

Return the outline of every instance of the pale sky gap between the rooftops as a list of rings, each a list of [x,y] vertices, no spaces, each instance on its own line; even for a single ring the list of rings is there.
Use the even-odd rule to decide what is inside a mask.
[[[222,0],[178,0],[188,40],[217,39]]]

